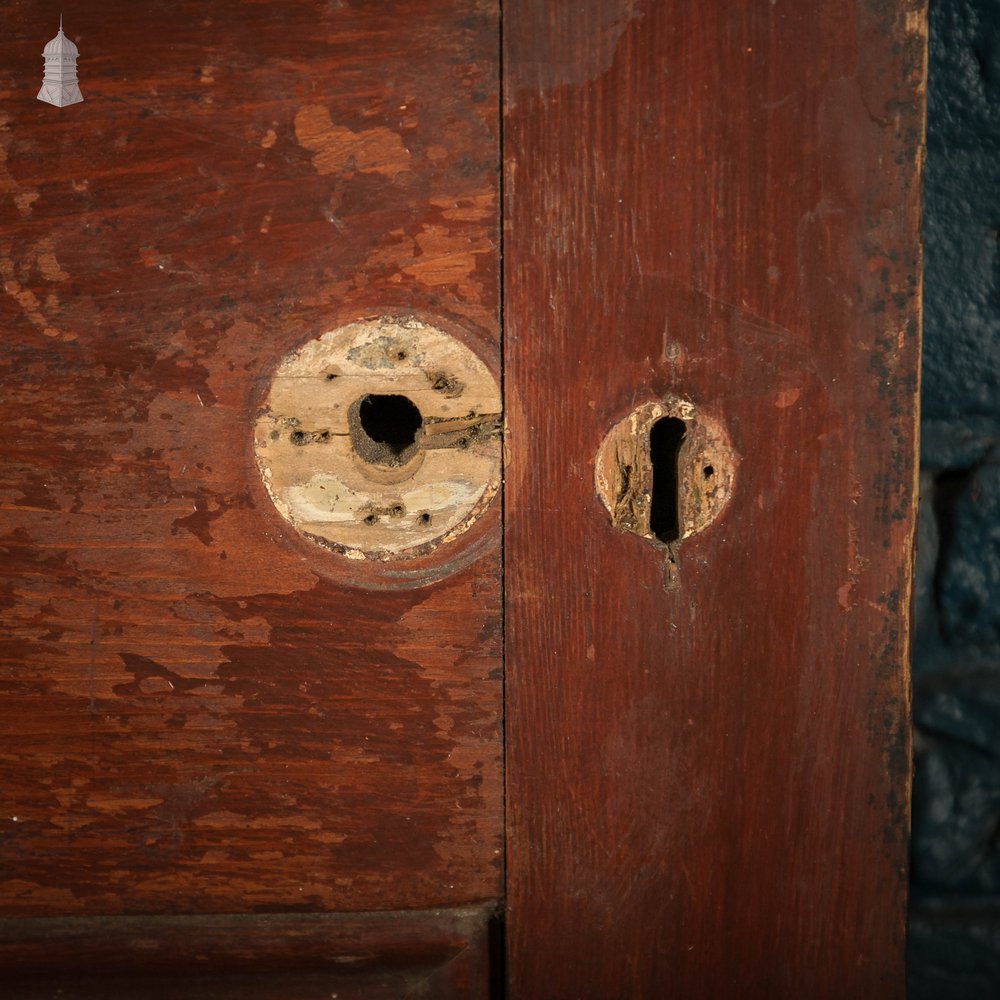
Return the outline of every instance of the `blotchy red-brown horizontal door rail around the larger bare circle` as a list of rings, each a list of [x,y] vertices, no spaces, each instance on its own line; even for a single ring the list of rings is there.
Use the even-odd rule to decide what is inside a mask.
[[[0,912],[498,898],[498,507],[434,586],[358,588],[253,460],[338,324],[499,370],[495,4],[66,10],[69,108],[52,10],[0,39]]]

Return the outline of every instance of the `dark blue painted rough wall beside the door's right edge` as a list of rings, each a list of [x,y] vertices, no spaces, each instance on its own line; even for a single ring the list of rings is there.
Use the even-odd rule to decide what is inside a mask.
[[[931,0],[912,1000],[1000,997],[1000,0]]]

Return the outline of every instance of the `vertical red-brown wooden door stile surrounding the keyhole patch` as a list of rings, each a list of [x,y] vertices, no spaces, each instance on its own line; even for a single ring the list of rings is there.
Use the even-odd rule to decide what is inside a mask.
[[[511,995],[901,997],[922,6],[504,35]],[[592,466],[669,395],[739,457],[672,590]]]

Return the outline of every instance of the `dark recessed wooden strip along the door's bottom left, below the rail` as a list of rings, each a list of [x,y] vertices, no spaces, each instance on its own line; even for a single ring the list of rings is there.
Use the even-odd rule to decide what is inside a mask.
[[[487,909],[0,919],[18,1000],[486,1000]]]

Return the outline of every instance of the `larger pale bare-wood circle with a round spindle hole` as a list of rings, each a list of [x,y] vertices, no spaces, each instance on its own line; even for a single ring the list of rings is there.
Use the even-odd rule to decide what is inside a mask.
[[[426,555],[500,487],[500,388],[422,320],[349,323],[278,366],[254,451],[274,506],[308,538],[355,560]]]

